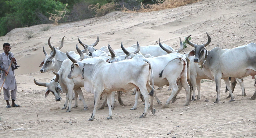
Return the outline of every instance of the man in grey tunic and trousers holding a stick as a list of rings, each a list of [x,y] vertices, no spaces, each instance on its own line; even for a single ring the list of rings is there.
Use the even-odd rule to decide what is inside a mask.
[[[16,100],[16,92],[17,92],[17,84],[16,84],[16,79],[14,76],[14,64],[17,65],[16,59],[13,56],[13,53],[10,52],[11,50],[11,45],[9,43],[4,43],[3,45],[4,52],[0,54],[0,70],[2,70],[5,73],[1,73],[1,79],[0,79],[0,85],[3,84],[3,81],[6,79],[3,85],[3,91],[4,91],[4,100],[6,100],[6,108],[12,108],[12,107],[21,107],[20,105],[15,104]],[[12,68],[8,68],[13,66]],[[11,90],[11,99],[12,99],[12,106],[9,104],[9,99],[10,99],[10,90]]]

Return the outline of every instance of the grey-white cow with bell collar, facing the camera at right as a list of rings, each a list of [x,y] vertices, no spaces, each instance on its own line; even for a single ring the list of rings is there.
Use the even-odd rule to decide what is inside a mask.
[[[189,45],[195,49],[191,50],[188,56],[195,56],[194,62],[198,63],[203,68],[204,73],[211,79],[215,80],[217,98],[214,103],[219,103],[219,93],[221,79],[224,79],[229,93],[231,96],[230,101],[235,101],[234,95],[231,90],[229,77],[243,79],[251,75],[254,79],[256,75],[256,44],[250,43],[247,45],[239,46],[229,50],[223,50],[220,47],[215,47],[208,51],[204,47],[210,44],[211,37],[208,35],[208,42],[202,45],[196,45],[188,40]],[[240,58],[237,58],[237,55]]]

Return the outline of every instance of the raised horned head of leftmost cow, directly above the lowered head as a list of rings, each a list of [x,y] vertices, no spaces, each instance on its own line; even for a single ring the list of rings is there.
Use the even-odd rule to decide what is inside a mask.
[[[39,67],[42,67],[40,69],[40,72],[41,73],[45,73],[49,70],[51,70],[54,66],[54,56],[56,54],[56,50],[55,48],[53,47],[53,53],[48,55],[47,52],[44,50],[44,47],[43,47],[43,52],[44,52],[44,55],[45,55],[45,58],[44,60],[40,63]]]

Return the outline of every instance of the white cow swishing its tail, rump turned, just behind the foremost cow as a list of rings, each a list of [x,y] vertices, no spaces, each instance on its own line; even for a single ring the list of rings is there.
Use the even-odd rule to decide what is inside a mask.
[[[159,45],[162,46],[160,39]],[[181,47],[183,48],[183,43],[181,43]],[[171,50],[170,50],[171,51]],[[136,55],[134,57],[141,57],[141,55]],[[184,56],[184,55],[183,55]],[[153,57],[147,59],[152,64],[153,74],[154,74],[154,85],[158,86],[162,89],[163,86],[169,84],[169,88],[172,89],[172,94],[169,99],[166,101],[163,108],[168,108],[171,99],[176,95],[176,93],[184,87],[187,95],[187,102],[185,105],[189,105],[190,98],[189,98],[189,90],[190,86],[187,82],[187,63],[186,57],[182,57],[179,54],[167,54],[163,56]],[[172,61],[171,63],[169,63]],[[169,64],[168,64],[169,63]],[[161,77],[159,77],[159,73],[166,68],[167,71],[163,72]],[[152,76],[151,76],[152,77]],[[179,85],[177,85],[179,83]],[[136,109],[137,100],[139,99],[140,93],[136,92],[136,100],[132,110]],[[156,98],[157,99],[157,98]],[[158,101],[161,104],[160,100]]]

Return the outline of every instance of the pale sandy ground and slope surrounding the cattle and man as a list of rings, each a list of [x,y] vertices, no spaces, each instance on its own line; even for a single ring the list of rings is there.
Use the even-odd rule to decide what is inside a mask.
[[[97,36],[100,38],[96,46],[98,49],[108,44],[113,49],[118,49],[121,42],[125,47],[137,41],[141,46],[152,45],[157,44],[159,38],[162,43],[178,49],[179,37],[184,39],[192,34],[191,42],[201,44],[207,42],[207,31],[212,38],[211,44],[207,46],[208,50],[217,46],[230,49],[255,42],[255,5],[255,0],[203,0],[157,12],[116,11],[103,17],[58,26],[45,24],[13,29],[0,37],[0,42],[12,45],[11,52],[15,54],[18,65],[21,65],[15,72],[18,87],[16,103],[22,107],[6,109],[3,94],[0,95],[0,137],[256,137],[255,100],[249,100],[255,91],[251,76],[244,78],[247,97],[241,96],[241,89],[237,84],[234,102],[229,102],[230,98],[226,98],[228,94],[225,93],[225,83],[222,80],[220,103],[213,104],[216,99],[215,82],[203,81],[201,100],[192,102],[189,106],[183,106],[186,96],[182,89],[176,103],[170,104],[168,109],[162,109],[162,105],[155,101],[155,115],[149,111],[146,118],[140,119],[143,102],[139,102],[137,110],[130,110],[135,96],[129,92],[122,95],[126,106],[116,103],[116,108],[112,111],[116,115],[113,115],[112,120],[106,119],[108,109],[105,108],[97,110],[94,121],[87,121],[93,110],[93,94],[87,93],[84,88],[82,90],[88,111],[84,111],[83,103],[78,101],[79,107],[72,108],[67,113],[61,109],[50,110],[52,106],[62,108],[64,94],[61,95],[62,101],[55,102],[52,94],[44,97],[46,87],[37,86],[33,82],[34,78],[39,82],[49,82],[54,76],[39,72],[39,64],[44,59],[43,46],[48,54],[50,52],[47,43],[50,36],[55,47],[66,36],[62,52],[75,50],[78,38],[91,44]],[[41,29],[48,25],[51,28],[42,32]],[[27,39],[26,31],[33,31],[36,36]],[[188,46],[182,52],[190,50],[192,47]],[[171,94],[167,89],[165,86],[162,90],[156,90],[163,103]],[[205,99],[209,102],[204,102]],[[102,102],[101,100],[100,103]],[[69,121],[71,122],[66,123]],[[26,130],[13,131],[21,127]],[[167,135],[168,133],[171,134]]]

